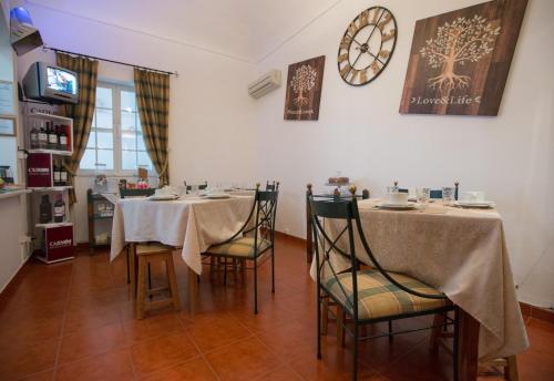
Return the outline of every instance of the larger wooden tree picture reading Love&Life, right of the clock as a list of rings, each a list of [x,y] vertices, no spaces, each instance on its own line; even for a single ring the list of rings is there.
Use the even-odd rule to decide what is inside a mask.
[[[402,114],[499,114],[529,0],[493,0],[416,22]]]

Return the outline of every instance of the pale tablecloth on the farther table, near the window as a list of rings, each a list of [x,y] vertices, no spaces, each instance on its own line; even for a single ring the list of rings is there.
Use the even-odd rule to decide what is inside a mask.
[[[253,203],[254,197],[247,195],[224,199],[185,196],[171,202],[120,199],[114,208],[110,258],[113,260],[125,243],[158,241],[183,247],[184,261],[201,274],[201,254],[238,231]]]

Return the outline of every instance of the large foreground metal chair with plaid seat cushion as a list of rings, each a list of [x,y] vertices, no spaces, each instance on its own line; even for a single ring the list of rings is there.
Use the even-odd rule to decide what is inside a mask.
[[[335,315],[338,333],[348,332],[353,338],[352,380],[358,377],[358,344],[360,340],[389,337],[413,331],[389,331],[361,336],[360,328],[381,321],[393,321],[424,315],[441,315],[447,325],[454,326],[454,380],[458,375],[458,307],[433,287],[404,274],[386,271],[373,256],[363,234],[358,212],[356,189],[352,197],[329,198],[308,195],[311,228],[316,251],[317,278],[317,357],[321,359],[321,336],[326,317]],[[332,225],[335,229],[325,226]],[[355,250],[355,235],[363,248]],[[340,262],[347,269],[336,269]],[[363,260],[360,261],[360,258]],[[371,266],[365,266],[371,265]],[[337,306],[335,313],[331,307]],[[448,312],[454,311],[453,319]],[[345,318],[346,316],[346,318]],[[342,329],[339,329],[339,326]],[[442,327],[442,323],[438,326]],[[433,329],[424,327],[422,329]],[[419,330],[419,329],[418,329]],[[342,338],[338,338],[341,341]],[[339,341],[339,342],[340,342]]]

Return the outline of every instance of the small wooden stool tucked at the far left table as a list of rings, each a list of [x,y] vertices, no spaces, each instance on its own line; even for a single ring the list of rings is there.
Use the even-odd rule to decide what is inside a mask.
[[[175,277],[175,267],[173,266],[173,247],[162,244],[141,244],[136,245],[136,256],[138,257],[138,279],[136,295],[136,318],[144,318],[144,311],[151,308],[173,305],[178,311],[181,309],[177,291],[177,279]],[[152,260],[161,259],[165,261],[167,274],[167,287],[147,288],[147,267]],[[170,290],[171,297],[161,300],[150,301],[146,296],[160,294]]]

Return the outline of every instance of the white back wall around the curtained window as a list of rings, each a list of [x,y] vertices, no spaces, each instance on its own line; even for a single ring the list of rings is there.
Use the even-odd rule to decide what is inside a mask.
[[[254,65],[151,35],[25,3],[47,45],[133,64],[178,71],[171,80],[170,175],[173,184],[250,181],[255,157],[254,101],[246,85]],[[19,76],[38,60],[38,49],[19,60]],[[133,81],[132,68],[100,63],[99,75]],[[76,241],[86,241],[86,188],[79,178]]]

